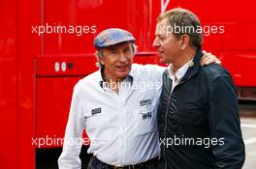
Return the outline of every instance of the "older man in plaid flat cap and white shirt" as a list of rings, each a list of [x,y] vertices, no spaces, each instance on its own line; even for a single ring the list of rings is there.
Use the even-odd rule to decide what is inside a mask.
[[[100,69],[74,88],[60,169],[80,168],[80,139],[85,129],[92,154],[89,169],[154,169],[160,154],[156,112],[166,68],[133,64],[135,38],[107,29],[94,40]],[[217,61],[206,57],[205,63]],[[146,84],[141,89],[142,84]]]

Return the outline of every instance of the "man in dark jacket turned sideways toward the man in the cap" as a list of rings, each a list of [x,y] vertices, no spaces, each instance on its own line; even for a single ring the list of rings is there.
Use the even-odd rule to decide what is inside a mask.
[[[170,63],[158,107],[161,169],[240,169],[244,162],[236,89],[221,66],[200,66],[202,30],[180,8],[157,20],[153,45]]]

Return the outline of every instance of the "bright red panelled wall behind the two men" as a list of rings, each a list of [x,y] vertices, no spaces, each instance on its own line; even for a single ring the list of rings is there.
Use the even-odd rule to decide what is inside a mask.
[[[35,168],[36,136],[63,136],[74,84],[97,70],[93,38],[120,27],[137,38],[138,63],[158,63],[152,47],[161,2],[199,16],[202,25],[224,25],[205,36],[204,49],[217,55],[237,86],[255,89],[256,17],[252,0],[3,0],[0,6],[0,168]],[[32,33],[32,26],[97,27],[96,34]],[[66,71],[54,64],[72,63]]]

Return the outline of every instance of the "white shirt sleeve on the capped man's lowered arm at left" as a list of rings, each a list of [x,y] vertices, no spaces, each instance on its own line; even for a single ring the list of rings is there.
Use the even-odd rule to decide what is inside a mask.
[[[63,151],[58,159],[59,169],[79,169],[81,167],[79,155],[82,145],[82,131],[85,126],[82,124],[82,107],[77,86],[74,88],[71,101]]]

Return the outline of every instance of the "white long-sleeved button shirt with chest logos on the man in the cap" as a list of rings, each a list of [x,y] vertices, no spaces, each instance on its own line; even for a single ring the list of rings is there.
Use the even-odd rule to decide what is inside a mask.
[[[157,106],[166,68],[133,64],[131,79],[126,79],[119,94],[103,88],[101,71],[81,79],[74,88],[65,131],[60,169],[80,168],[80,139],[85,129],[91,141],[89,154],[110,165],[144,162],[160,153],[157,132]]]

